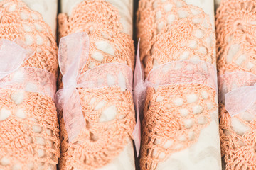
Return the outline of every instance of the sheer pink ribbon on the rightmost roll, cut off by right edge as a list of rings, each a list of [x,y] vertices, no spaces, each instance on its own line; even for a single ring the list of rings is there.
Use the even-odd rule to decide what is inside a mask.
[[[256,75],[231,72],[219,77],[220,101],[230,116],[248,111],[256,113]]]

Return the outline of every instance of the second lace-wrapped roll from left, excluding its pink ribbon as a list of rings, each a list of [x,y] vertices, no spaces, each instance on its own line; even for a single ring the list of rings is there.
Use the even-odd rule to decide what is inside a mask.
[[[64,13],[58,16],[60,37],[78,32],[85,32],[89,37],[89,56],[81,74],[110,63],[125,64],[133,69],[130,2],[61,1]],[[122,9],[127,10],[125,15],[122,14]],[[69,36],[64,40],[70,38]],[[83,57],[86,58],[86,55]],[[85,123],[73,118],[78,122],[65,124],[64,113],[60,113],[60,169],[135,169],[132,145],[135,115],[132,93],[120,88],[125,83],[124,74],[116,74],[119,74],[119,86],[78,89]],[[112,81],[115,76],[110,74],[107,79]],[[91,79],[100,81],[97,76],[92,76]],[[87,84],[86,81],[83,83]],[[70,137],[68,133],[73,132],[75,123],[81,123],[85,127],[73,139],[73,135]]]

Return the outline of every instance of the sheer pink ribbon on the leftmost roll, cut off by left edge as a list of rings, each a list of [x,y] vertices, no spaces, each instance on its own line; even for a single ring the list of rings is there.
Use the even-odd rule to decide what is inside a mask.
[[[28,50],[9,40],[0,40],[0,88],[24,90],[50,96],[54,99],[56,79],[50,72],[21,67],[31,56]]]

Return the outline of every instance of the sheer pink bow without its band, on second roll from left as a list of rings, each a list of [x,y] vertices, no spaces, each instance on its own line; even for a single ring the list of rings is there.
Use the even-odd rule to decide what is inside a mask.
[[[75,33],[60,39],[59,67],[63,74],[63,89],[56,93],[57,110],[63,108],[65,128],[70,141],[85,127],[77,88],[78,79],[87,62],[89,38],[85,33]]]

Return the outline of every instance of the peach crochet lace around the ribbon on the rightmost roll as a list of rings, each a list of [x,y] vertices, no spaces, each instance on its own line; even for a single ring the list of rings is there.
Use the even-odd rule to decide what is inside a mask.
[[[232,72],[256,74],[256,1],[224,0],[216,14],[218,72],[222,77]],[[234,81],[239,84],[234,84]],[[228,91],[235,86],[255,84],[253,79],[237,77],[226,81]],[[220,84],[219,89],[223,89]],[[224,95],[224,94],[222,94]],[[223,98],[223,96],[222,96]],[[225,169],[256,169],[256,132],[254,113],[231,118],[220,101],[220,142]],[[249,113],[249,114],[248,114]],[[242,130],[243,128],[243,130]]]

